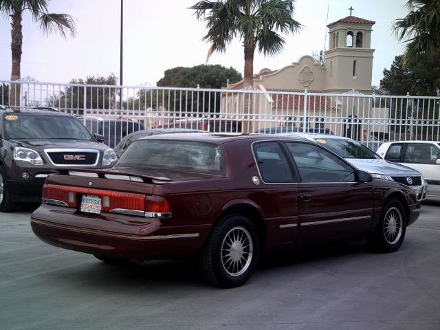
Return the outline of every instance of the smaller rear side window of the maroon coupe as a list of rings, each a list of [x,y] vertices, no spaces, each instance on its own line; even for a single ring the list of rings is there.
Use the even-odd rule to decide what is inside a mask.
[[[261,178],[266,183],[289,183],[294,181],[289,161],[278,142],[254,144],[254,155]]]

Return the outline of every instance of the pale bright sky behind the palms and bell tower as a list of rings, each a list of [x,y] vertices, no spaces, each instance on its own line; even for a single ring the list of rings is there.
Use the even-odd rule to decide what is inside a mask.
[[[187,8],[197,0],[124,0],[124,85],[155,85],[172,67],[205,64],[209,45],[201,38],[205,23]],[[255,54],[254,73],[280,69],[327,47],[327,23],[349,16],[375,21],[371,47],[373,85],[379,85],[384,68],[402,54],[392,32],[395,19],[405,17],[406,0],[297,0],[294,18],[305,28],[286,37],[285,50],[265,58]],[[328,10],[329,9],[329,10]],[[72,78],[120,74],[120,0],[52,0],[50,12],[76,19],[76,38],[45,36],[28,13],[23,15],[21,77],[44,83],[68,83]],[[328,19],[327,19],[328,11]],[[0,19],[0,80],[10,79],[10,19]],[[243,47],[236,39],[225,54],[214,54],[208,64],[234,67],[243,74]]]

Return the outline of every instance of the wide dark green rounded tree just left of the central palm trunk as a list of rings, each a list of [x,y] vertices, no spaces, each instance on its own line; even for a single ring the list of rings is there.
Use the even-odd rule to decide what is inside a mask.
[[[174,67],[164,72],[157,81],[158,87],[189,87],[220,89],[228,80],[240,81],[241,74],[236,69],[221,65],[197,65],[195,67]],[[185,112],[196,109],[199,112],[219,112],[221,97],[218,91],[179,91],[161,89],[141,89],[137,98],[129,100],[129,109],[175,109]]]

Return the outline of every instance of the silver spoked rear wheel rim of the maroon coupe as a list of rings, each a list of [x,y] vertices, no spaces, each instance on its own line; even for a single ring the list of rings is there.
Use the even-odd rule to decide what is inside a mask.
[[[252,236],[243,227],[232,228],[221,244],[221,263],[230,276],[240,276],[252,261]]]

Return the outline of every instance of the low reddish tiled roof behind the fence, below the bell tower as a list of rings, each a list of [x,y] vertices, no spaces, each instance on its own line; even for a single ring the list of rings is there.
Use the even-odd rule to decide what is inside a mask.
[[[276,107],[276,109],[286,109],[286,110],[304,109],[304,95],[272,94],[270,93],[271,91],[281,91],[281,92],[284,91],[284,92],[296,92],[296,93],[304,93],[304,91],[267,89],[267,94],[272,98],[272,100],[274,100],[274,107]],[[309,91],[309,92],[317,93],[316,91]],[[309,109],[309,111],[331,111],[331,109],[334,108],[334,104],[332,104],[331,97],[329,96],[307,95],[306,108]]]

